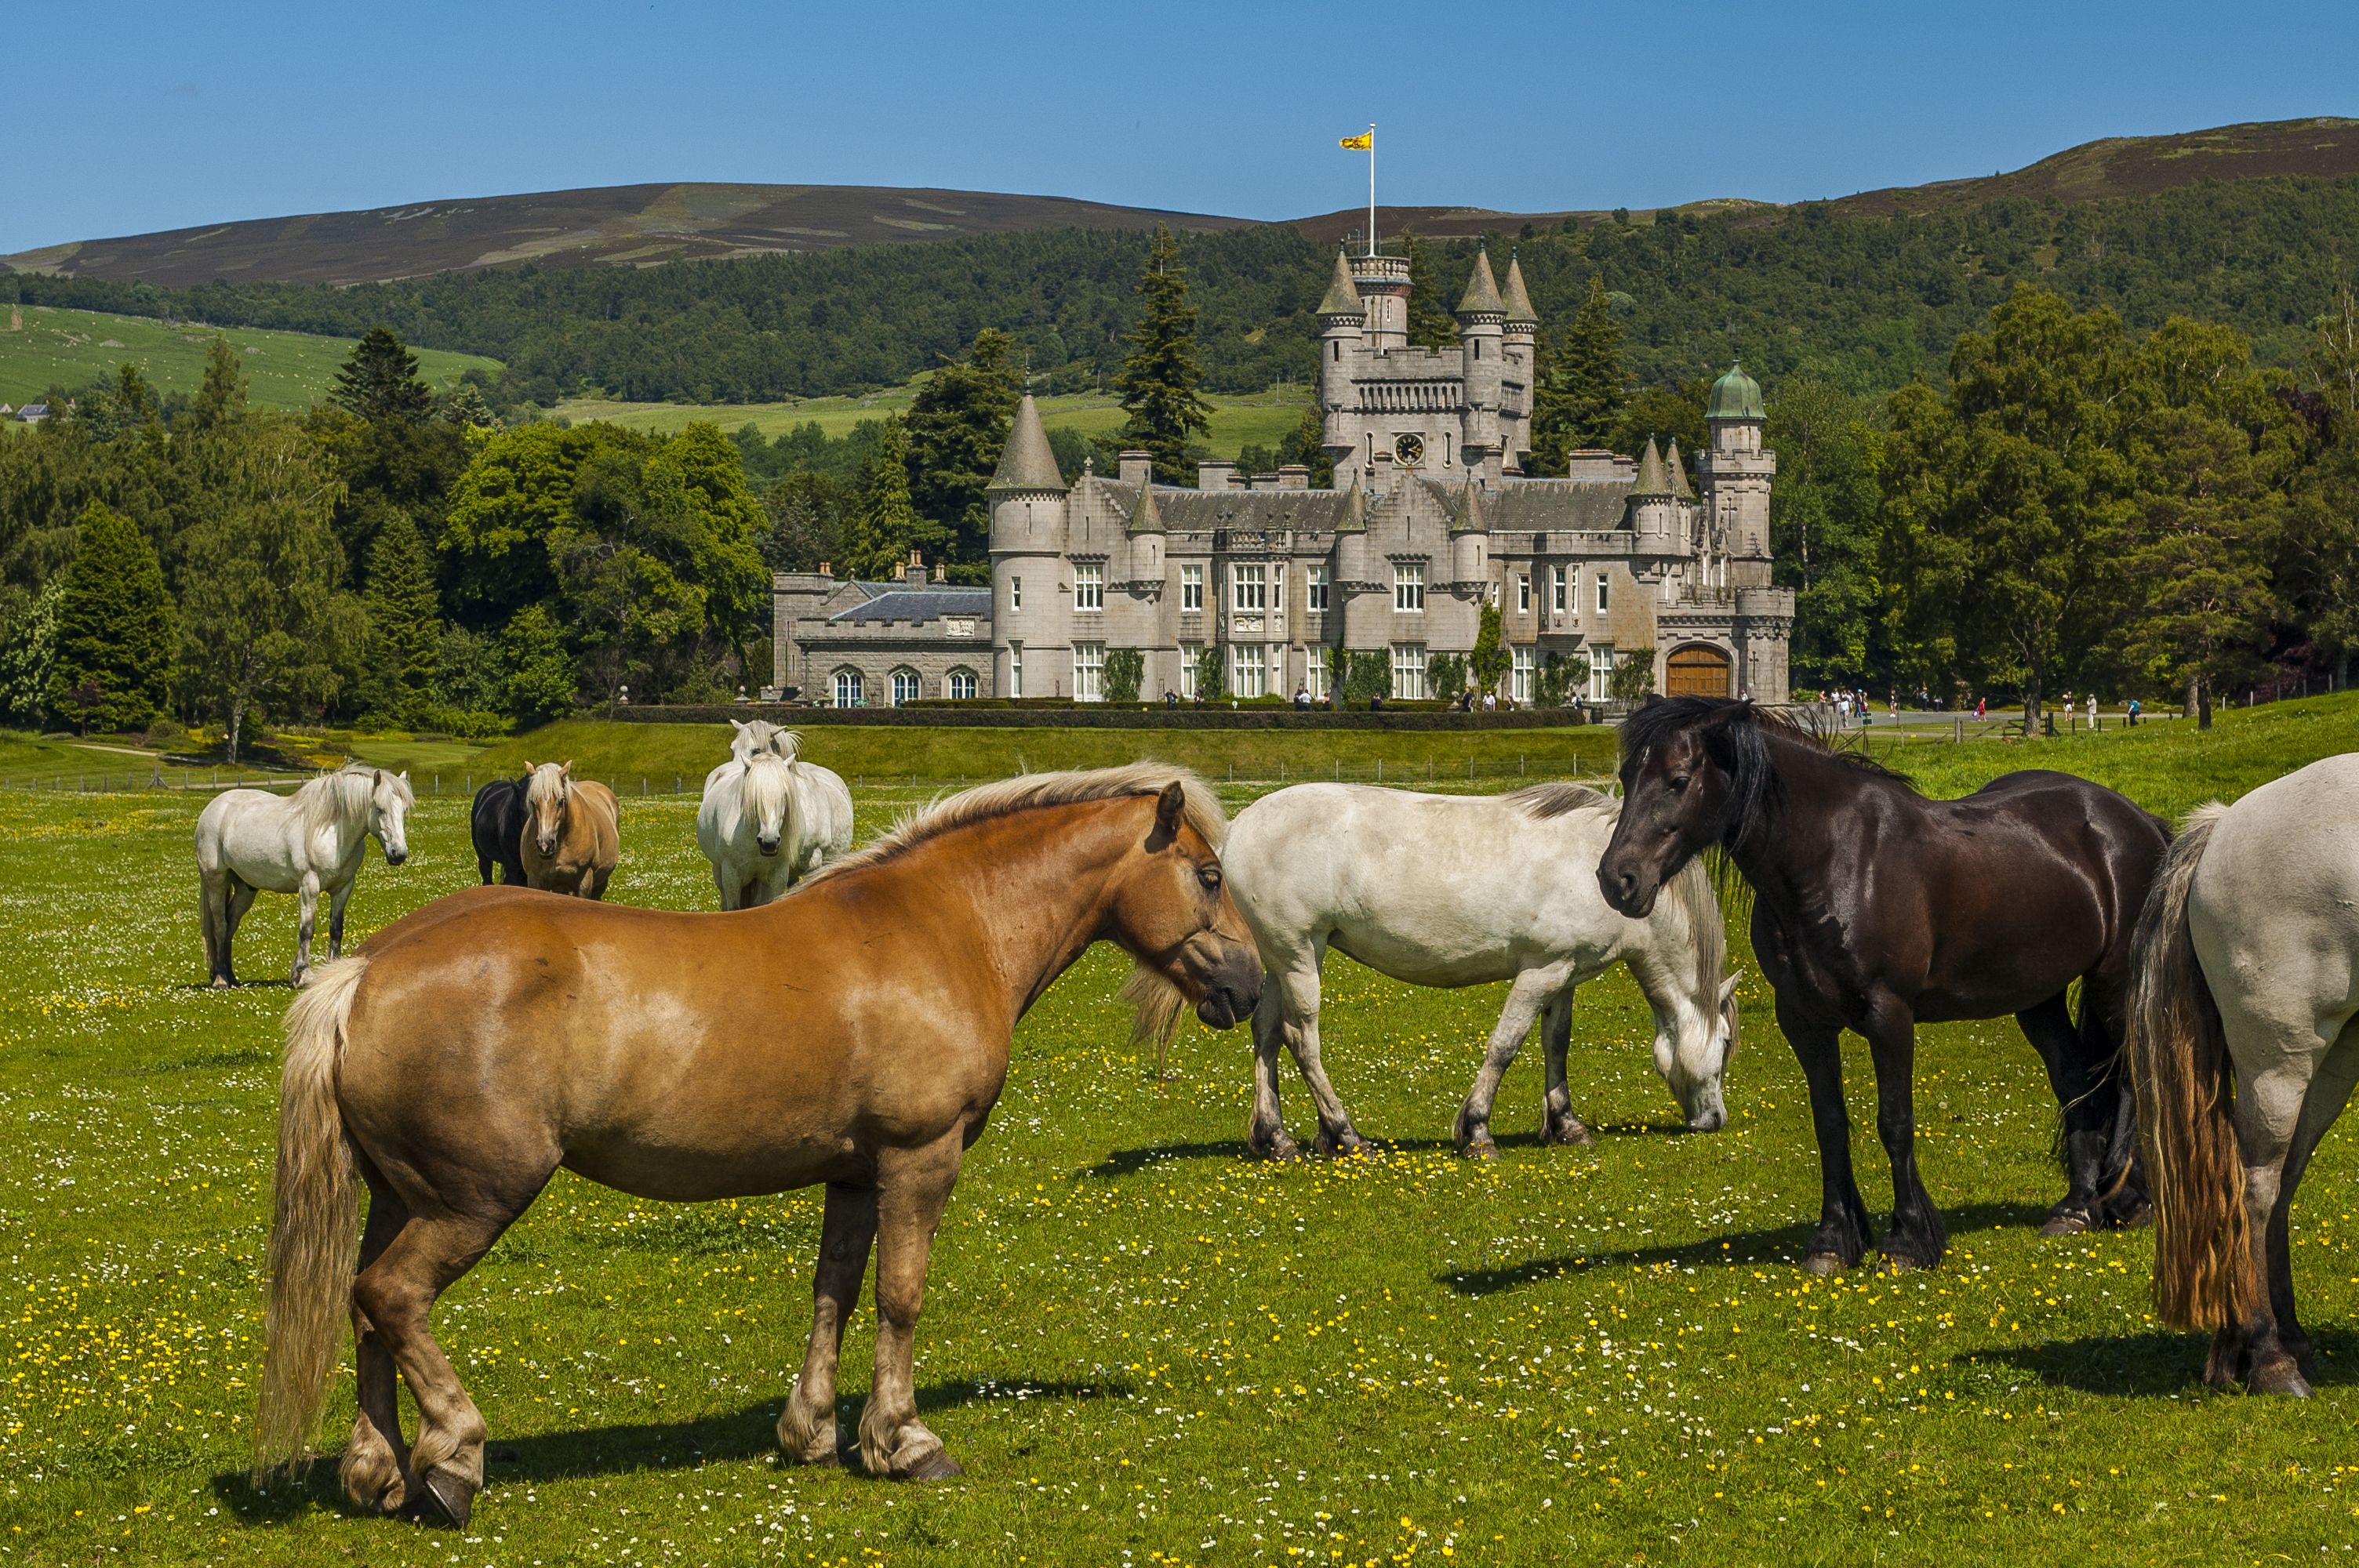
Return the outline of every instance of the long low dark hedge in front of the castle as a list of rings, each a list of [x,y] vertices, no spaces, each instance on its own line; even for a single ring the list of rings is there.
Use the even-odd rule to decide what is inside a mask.
[[[616,707],[625,724],[722,724],[724,719],[769,719],[790,729],[826,724],[908,726],[908,729],[1394,729],[1394,731],[1481,731],[1481,729],[1566,729],[1585,724],[1578,707],[1519,707],[1514,712],[1326,712],[1321,707],[795,707],[788,703],[705,703],[677,707]]]

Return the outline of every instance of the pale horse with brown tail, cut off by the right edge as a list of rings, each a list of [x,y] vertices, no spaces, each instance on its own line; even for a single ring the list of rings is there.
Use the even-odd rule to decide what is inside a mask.
[[[2286,1219],[2359,1082],[2359,755],[2187,818],[2137,927],[2154,1311],[2210,1384],[2309,1394]]]

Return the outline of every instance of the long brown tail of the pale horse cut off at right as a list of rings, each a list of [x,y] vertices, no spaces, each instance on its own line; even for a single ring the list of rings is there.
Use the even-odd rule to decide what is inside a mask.
[[[2154,1198],[2154,1311],[2177,1327],[2220,1327],[2258,1306],[2227,1033],[2187,934],[2187,894],[2225,811],[2201,806],[2163,851],[2137,917],[2130,990],[2125,1047]]]

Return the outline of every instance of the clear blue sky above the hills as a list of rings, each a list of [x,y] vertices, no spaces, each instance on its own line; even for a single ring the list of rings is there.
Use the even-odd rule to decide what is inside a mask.
[[[1798,200],[2359,116],[2359,5],[123,5],[0,31],[0,252],[651,179],[1302,217]]]

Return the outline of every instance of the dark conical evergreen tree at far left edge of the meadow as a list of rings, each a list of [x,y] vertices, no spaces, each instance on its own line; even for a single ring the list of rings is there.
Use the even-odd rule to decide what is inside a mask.
[[[73,714],[83,733],[144,729],[170,693],[172,651],[156,547],[127,516],[90,502],[57,606],[50,712]]]

